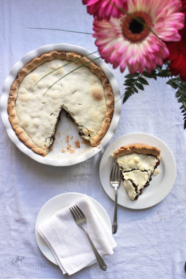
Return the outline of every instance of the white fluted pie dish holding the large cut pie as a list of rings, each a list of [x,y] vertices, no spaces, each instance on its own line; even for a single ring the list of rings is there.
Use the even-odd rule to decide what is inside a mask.
[[[9,91],[11,88],[12,83],[17,78],[18,72],[21,68],[25,66],[26,63],[31,61],[35,57],[41,56],[43,53],[50,52],[52,50],[57,51],[73,51],[76,53],[79,53],[83,56],[86,56],[91,53],[91,51],[84,49],[83,47],[79,47],[77,45],[70,45],[70,44],[54,44],[54,45],[44,45],[42,47],[39,47],[38,49],[32,50],[28,52],[19,62],[17,62],[13,68],[11,69],[9,75],[7,76],[4,85],[3,85],[3,91],[1,94],[1,100],[0,100],[0,108],[1,108],[1,119],[3,121],[4,127],[8,133],[9,138],[15,143],[15,145],[26,155],[28,155],[30,158],[36,160],[37,162],[44,163],[47,165],[53,165],[53,166],[69,166],[74,165],[80,162],[83,162],[92,156],[94,156],[96,153],[102,150],[102,148],[107,145],[107,143],[112,138],[115,129],[117,127],[119,117],[120,117],[120,110],[121,110],[121,101],[120,101],[120,90],[117,85],[117,81],[115,80],[114,75],[108,68],[107,64],[102,60],[98,59],[95,61],[95,63],[100,66],[100,68],[103,70],[103,72],[108,77],[108,80],[110,82],[110,85],[112,86],[113,95],[114,95],[114,113],[112,117],[112,121],[110,123],[110,127],[107,131],[107,134],[104,136],[104,138],[101,140],[101,143],[98,147],[90,148],[90,146],[87,146],[83,143],[81,143],[82,138],[78,135],[78,129],[76,128],[76,125],[71,122],[67,117],[64,116],[62,113],[61,120],[59,121],[57,125],[57,131],[55,134],[55,141],[52,146],[52,150],[49,151],[46,157],[42,157],[36,153],[34,153],[30,148],[26,147],[16,136],[14,130],[12,129],[12,126],[8,120],[8,113],[7,113],[7,105],[8,105],[8,97],[9,97]],[[91,54],[88,56],[90,59],[95,59],[95,54]],[[67,143],[65,137],[69,135],[69,137],[73,137],[69,144],[73,147],[74,140],[79,140],[80,142],[80,148],[74,149],[74,153],[69,153],[66,151],[66,153],[63,153],[61,150],[66,150]]]

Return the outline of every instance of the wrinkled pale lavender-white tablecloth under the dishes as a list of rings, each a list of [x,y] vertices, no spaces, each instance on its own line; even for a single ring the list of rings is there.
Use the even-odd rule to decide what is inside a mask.
[[[92,21],[81,0],[1,0],[0,90],[12,66],[37,47],[70,43],[96,50],[91,35],[26,27],[91,33]],[[127,71],[121,74],[116,69],[113,73],[123,94]],[[182,279],[186,276],[186,132],[175,92],[165,82],[166,79],[159,78],[149,80],[150,86],[145,86],[144,92],[133,95],[122,105],[120,121],[110,143],[131,132],[157,136],[175,157],[175,185],[161,203],[151,208],[130,210],[118,206],[119,227],[114,235],[117,247],[112,256],[105,257],[107,271],[93,264],[71,275],[73,279]],[[8,138],[2,122],[0,143],[0,277],[68,278],[40,252],[34,234],[35,220],[48,199],[65,192],[86,193],[95,198],[112,220],[114,203],[99,179],[99,164],[106,147],[78,165],[51,167],[35,162],[18,150]]]

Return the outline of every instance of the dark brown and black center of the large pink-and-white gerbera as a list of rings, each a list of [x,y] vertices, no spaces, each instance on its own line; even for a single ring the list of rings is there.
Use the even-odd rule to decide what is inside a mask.
[[[142,21],[146,26],[137,21],[132,16]],[[122,31],[125,39],[132,43],[142,42],[150,33],[147,27],[151,28],[151,18],[143,12],[134,12],[132,15],[126,15],[123,19]]]

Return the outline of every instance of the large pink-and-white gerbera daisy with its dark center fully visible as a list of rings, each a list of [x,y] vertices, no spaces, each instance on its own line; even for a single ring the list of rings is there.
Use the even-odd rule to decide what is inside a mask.
[[[113,68],[120,66],[123,72],[140,73],[146,69],[156,69],[169,55],[163,41],[179,41],[178,29],[183,28],[184,14],[179,13],[182,3],[179,0],[129,0],[128,12],[151,28],[140,24],[130,15],[121,15],[110,21],[94,20],[93,36],[100,55]]]

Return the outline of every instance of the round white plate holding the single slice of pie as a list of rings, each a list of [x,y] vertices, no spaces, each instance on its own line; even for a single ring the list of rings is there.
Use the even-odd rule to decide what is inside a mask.
[[[150,185],[144,188],[143,193],[136,201],[132,201],[121,181],[118,187],[117,201],[120,205],[142,209],[156,205],[162,201],[172,189],[176,178],[176,163],[168,146],[155,136],[145,133],[131,133],[121,136],[111,143],[105,150],[100,162],[100,180],[103,189],[107,195],[114,200],[114,189],[110,186],[109,177],[113,164],[113,158],[110,156],[114,151],[124,145],[130,144],[147,144],[156,146],[161,150],[161,161],[158,169],[161,171],[157,176],[153,176]]]

